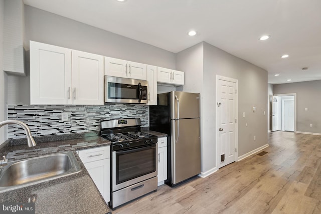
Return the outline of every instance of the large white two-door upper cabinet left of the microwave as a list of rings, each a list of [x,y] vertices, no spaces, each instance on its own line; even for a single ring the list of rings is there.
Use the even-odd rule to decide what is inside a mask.
[[[30,41],[32,105],[103,105],[103,56]]]

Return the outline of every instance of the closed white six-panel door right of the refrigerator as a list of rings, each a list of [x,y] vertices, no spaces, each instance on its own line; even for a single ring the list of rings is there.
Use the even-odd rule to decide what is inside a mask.
[[[236,82],[217,80],[218,167],[236,160]]]

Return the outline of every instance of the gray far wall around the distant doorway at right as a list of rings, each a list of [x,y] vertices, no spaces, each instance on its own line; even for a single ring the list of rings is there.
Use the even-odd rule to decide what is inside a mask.
[[[277,84],[273,90],[274,94],[296,93],[296,131],[321,134],[321,80]]]

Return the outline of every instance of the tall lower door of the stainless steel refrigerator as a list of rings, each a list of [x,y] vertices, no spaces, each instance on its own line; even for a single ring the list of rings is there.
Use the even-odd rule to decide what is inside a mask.
[[[172,183],[201,173],[200,119],[172,120]]]

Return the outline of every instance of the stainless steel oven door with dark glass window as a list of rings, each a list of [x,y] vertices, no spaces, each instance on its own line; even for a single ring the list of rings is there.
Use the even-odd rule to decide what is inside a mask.
[[[112,191],[157,176],[157,144],[112,152]]]

